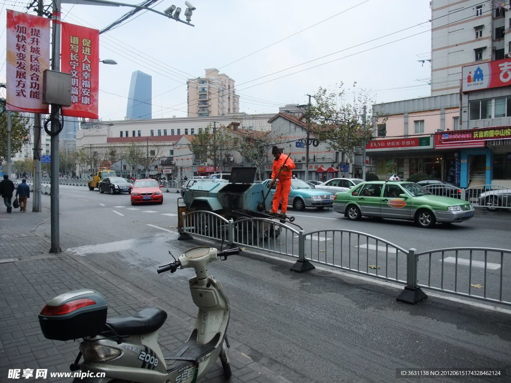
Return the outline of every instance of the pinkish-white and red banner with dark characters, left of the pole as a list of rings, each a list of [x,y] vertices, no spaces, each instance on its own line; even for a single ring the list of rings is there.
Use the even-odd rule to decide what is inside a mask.
[[[7,10],[7,110],[47,113],[43,71],[50,68],[50,20]]]

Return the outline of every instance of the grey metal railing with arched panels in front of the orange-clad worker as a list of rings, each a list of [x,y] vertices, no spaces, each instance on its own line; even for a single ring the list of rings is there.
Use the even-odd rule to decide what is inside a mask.
[[[446,248],[424,252],[353,230],[296,230],[264,218],[227,220],[211,211],[182,213],[181,234],[198,234],[232,246],[297,258],[291,270],[314,264],[405,285],[399,301],[417,303],[429,289],[511,305],[511,250]]]

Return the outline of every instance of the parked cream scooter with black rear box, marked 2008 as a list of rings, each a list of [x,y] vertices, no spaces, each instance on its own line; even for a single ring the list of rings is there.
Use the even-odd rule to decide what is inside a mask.
[[[47,339],[61,341],[83,338],[70,367],[83,372],[76,382],[190,383],[210,371],[217,357],[228,378],[229,300],[222,284],[208,275],[207,265],[236,253],[239,248],[218,251],[199,246],[158,268],[158,273],[185,268],[193,268],[196,273],[189,280],[192,299],[199,308],[195,325],[188,341],[169,356],[164,356],[158,345],[158,329],[167,319],[164,310],[151,307],[131,316],[107,318],[107,304],[94,290],[71,291],[48,302],[39,314],[42,333]],[[105,377],[90,377],[98,372],[105,373]]]

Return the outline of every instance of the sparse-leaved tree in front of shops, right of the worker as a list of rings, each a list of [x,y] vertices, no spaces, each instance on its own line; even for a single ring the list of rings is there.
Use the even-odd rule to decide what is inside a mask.
[[[350,165],[348,173],[353,175],[355,150],[373,136],[370,121],[384,116],[366,117],[368,123],[364,129],[364,106],[371,113],[371,105],[375,101],[362,89],[351,102],[347,100],[349,92],[343,88],[343,83],[337,88],[332,91],[320,87],[314,94],[315,104],[307,108],[307,116],[311,119],[311,130],[317,138],[325,140],[329,149],[345,153]]]

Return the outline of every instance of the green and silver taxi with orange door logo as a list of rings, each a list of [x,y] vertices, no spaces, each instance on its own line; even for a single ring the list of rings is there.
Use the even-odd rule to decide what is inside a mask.
[[[436,196],[421,185],[402,181],[362,182],[337,193],[333,208],[352,221],[363,216],[392,218],[428,228],[436,222],[450,224],[474,216],[474,207],[467,201]]]

